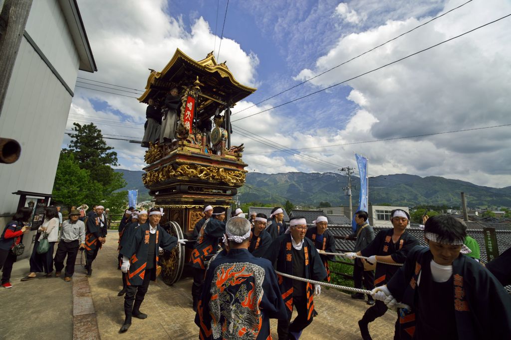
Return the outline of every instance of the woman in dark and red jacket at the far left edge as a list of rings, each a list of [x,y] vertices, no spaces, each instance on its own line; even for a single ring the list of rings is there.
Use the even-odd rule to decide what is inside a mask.
[[[12,221],[7,223],[2,236],[0,237],[0,269],[2,270],[2,286],[11,288],[12,265],[16,262],[16,257],[23,253],[25,246],[21,244],[21,235],[30,231],[25,224],[30,219],[32,210],[29,207],[19,208],[12,217]]]

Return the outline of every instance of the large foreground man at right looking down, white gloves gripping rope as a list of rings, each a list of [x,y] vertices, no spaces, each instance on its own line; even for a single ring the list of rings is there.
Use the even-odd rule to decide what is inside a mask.
[[[467,226],[449,215],[425,223],[428,247],[414,247],[387,285],[371,292],[401,310],[401,339],[509,339],[511,297],[499,281],[464,254]],[[396,334],[398,335],[398,334]],[[395,337],[395,336],[394,336]]]

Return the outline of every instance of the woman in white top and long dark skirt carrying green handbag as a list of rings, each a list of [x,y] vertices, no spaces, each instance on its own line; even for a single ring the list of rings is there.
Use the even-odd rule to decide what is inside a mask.
[[[44,222],[38,229],[34,249],[30,256],[30,274],[22,278],[21,281],[32,280],[36,277],[36,273],[40,272],[44,272],[44,276],[52,276],[53,247],[59,233],[59,215],[55,206],[48,206],[44,212]]]

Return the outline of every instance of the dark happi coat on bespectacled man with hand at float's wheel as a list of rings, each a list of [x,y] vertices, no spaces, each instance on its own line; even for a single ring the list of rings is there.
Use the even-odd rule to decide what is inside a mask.
[[[134,224],[134,223],[133,223]],[[149,252],[149,239],[150,239],[150,225],[149,221],[141,224],[138,227],[133,227],[128,235],[129,239],[121,247],[121,255],[129,258],[130,267],[126,273],[127,285],[141,285],[144,281],[146,274],[146,266],[148,260],[154,261],[154,267],[158,263],[158,249],[159,247],[171,251],[177,245],[177,239],[169,234],[159,224],[156,226],[155,238],[155,258],[148,259],[147,253]],[[153,271],[155,273],[155,271]],[[154,275],[151,280],[156,281]]]

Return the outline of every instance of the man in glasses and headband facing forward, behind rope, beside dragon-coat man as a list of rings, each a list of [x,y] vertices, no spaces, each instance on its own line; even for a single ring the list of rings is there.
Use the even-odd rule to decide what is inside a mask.
[[[264,257],[281,273],[315,281],[324,280],[327,271],[316,247],[305,237],[307,221],[303,217],[295,217],[289,221],[289,225],[284,235],[273,240]],[[287,306],[287,318],[278,320],[278,338],[298,339],[314,318],[313,295],[321,293],[321,286],[278,274],[277,277],[282,299]],[[298,315],[291,322],[293,305]]]

